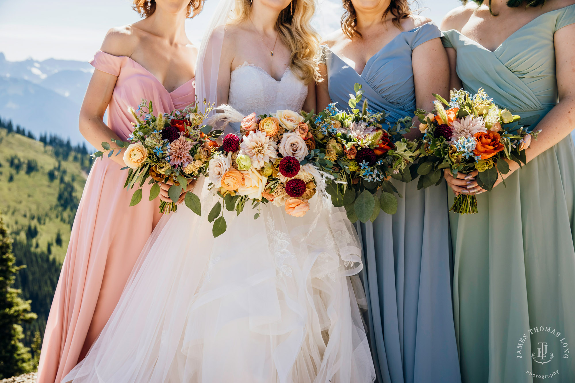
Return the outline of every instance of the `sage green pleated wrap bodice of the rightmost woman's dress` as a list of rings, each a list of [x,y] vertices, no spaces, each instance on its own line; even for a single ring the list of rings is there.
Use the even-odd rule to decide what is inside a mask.
[[[466,90],[485,88],[497,105],[531,119],[532,127],[557,104],[555,31],[575,21],[575,5],[547,12],[509,36],[493,52],[457,30],[443,44],[457,50],[457,75]]]

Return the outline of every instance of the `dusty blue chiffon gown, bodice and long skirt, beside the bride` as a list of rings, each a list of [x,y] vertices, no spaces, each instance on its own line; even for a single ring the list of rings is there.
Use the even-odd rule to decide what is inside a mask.
[[[389,121],[416,109],[411,55],[442,34],[433,23],[401,32],[362,74],[326,49],[329,96],[340,109],[360,83],[369,108]],[[450,281],[446,185],[417,190],[393,180],[403,196],[397,213],[356,224],[363,244],[363,284],[371,351],[381,383],[461,382]]]

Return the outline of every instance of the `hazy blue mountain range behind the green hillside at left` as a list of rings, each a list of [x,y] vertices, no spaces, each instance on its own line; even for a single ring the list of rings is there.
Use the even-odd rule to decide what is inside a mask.
[[[0,52],[0,116],[36,136],[55,133],[84,143],[78,115],[93,71],[72,60],[10,62]]]

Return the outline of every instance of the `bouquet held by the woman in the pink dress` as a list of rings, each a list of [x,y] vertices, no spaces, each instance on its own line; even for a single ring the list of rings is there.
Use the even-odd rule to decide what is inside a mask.
[[[205,101],[204,101],[205,104]],[[136,122],[132,122],[134,130],[129,141],[112,139],[117,147],[112,148],[108,142],[102,142],[104,151],[93,154],[95,158],[107,153],[111,157],[124,151],[124,162],[128,177],[124,187],[137,187],[132,196],[130,206],[141,201],[144,182],[152,184],[150,201],[158,197],[160,183],[171,181],[173,185],[168,190],[172,202],[160,202],[160,212],[175,212],[178,199],[187,184],[200,174],[206,173],[212,148],[217,146],[213,141],[221,132],[211,131],[212,127],[202,125],[204,118],[213,109],[212,105],[204,105],[204,112],[199,112],[198,102],[183,110],[154,115],[152,102],[142,100],[137,110],[129,109]],[[195,213],[200,215],[200,198],[188,191],[184,202]]]

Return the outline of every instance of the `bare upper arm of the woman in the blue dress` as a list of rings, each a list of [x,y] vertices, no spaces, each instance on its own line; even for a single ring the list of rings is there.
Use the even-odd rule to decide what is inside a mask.
[[[430,60],[429,58],[434,58]],[[413,49],[413,83],[415,83],[415,104],[417,108],[432,110],[435,97],[433,93],[448,98],[449,62],[441,39],[432,39]],[[412,129],[406,138],[419,137],[421,133]]]

